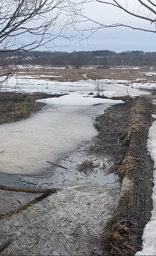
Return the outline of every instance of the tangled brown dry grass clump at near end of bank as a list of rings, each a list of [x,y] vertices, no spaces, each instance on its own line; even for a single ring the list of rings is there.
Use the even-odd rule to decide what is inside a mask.
[[[133,255],[138,248],[135,243],[138,237],[135,235],[135,229],[138,225],[134,221],[121,219],[117,209],[114,215],[108,220],[103,233],[104,255],[119,256]]]

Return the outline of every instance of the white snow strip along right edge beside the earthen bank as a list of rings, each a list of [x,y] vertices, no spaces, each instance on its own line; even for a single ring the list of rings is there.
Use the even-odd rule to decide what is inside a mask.
[[[152,115],[156,118],[156,115]],[[143,249],[138,251],[135,255],[156,255],[156,121],[154,121],[149,129],[147,140],[147,150],[150,153],[150,157],[154,163],[153,170],[153,189],[152,189],[152,201],[153,209],[151,211],[151,219],[146,224],[142,236]]]

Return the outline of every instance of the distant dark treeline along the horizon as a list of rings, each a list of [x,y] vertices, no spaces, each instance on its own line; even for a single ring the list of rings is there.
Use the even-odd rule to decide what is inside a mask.
[[[23,58],[21,58],[23,56]],[[108,50],[100,51],[29,51],[3,52],[0,59],[19,58],[23,63],[54,66],[156,66],[156,52],[126,51],[116,53]]]

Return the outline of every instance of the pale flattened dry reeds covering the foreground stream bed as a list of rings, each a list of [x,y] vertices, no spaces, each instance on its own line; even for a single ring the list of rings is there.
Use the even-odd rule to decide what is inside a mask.
[[[2,255],[102,255],[101,234],[110,204],[110,196],[100,187],[64,189],[1,220],[6,238],[15,230],[21,232]]]

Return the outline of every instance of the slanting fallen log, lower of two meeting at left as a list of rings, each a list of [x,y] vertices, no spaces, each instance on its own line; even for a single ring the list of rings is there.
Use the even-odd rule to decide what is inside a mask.
[[[40,197],[37,197],[37,198],[35,198],[34,200],[30,201],[29,203],[27,203],[27,204],[25,204],[25,205],[20,206],[19,208],[15,209],[15,210],[9,211],[9,212],[8,212],[7,214],[5,214],[5,215],[1,215],[1,216],[0,216],[0,220],[1,220],[1,219],[5,219],[5,218],[7,218],[7,217],[9,217],[9,216],[12,216],[12,215],[14,215],[14,214],[17,214],[17,213],[20,212],[20,211],[24,211],[24,210],[26,210],[27,208],[31,207],[32,205],[34,205],[34,204],[40,202],[41,200],[43,200],[44,198],[47,198],[47,197],[49,197],[49,194],[44,194],[44,195],[42,195],[42,196],[40,196]]]

